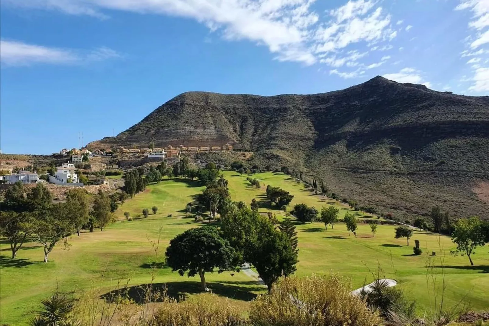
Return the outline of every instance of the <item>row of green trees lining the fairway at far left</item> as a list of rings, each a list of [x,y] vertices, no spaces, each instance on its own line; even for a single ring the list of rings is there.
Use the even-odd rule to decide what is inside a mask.
[[[44,246],[44,262],[56,243],[81,228],[101,230],[112,220],[111,199],[100,191],[90,208],[87,192],[73,188],[64,203],[53,204],[52,195],[42,184],[27,189],[21,182],[8,188],[1,203],[0,235],[10,244],[12,258],[29,240]],[[67,240],[65,240],[67,244]]]

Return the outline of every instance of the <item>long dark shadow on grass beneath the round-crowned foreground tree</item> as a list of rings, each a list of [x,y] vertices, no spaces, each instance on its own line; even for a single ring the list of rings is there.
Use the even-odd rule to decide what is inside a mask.
[[[253,285],[253,286],[239,286],[241,285]],[[155,283],[151,286],[150,284],[140,284],[131,286],[128,288],[122,288],[113,290],[106,294],[100,296],[100,299],[104,299],[107,302],[113,302],[120,297],[129,297],[135,303],[147,303],[145,299],[147,294],[151,292],[152,302],[162,302],[162,295],[166,293],[168,297],[171,297],[177,301],[185,299],[187,295],[202,293],[199,281],[178,281],[178,282],[168,282],[168,283]],[[217,294],[222,297],[227,297],[231,299],[237,299],[242,301],[251,301],[256,298],[256,294],[253,291],[261,291],[264,289],[256,281],[248,282],[208,282],[207,287],[212,293]]]

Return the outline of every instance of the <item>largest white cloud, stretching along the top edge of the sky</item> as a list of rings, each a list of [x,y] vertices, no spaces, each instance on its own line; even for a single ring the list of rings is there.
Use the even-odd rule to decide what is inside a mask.
[[[376,0],[349,0],[320,17],[316,0],[3,0],[12,6],[107,18],[111,10],[194,19],[226,40],[267,46],[280,61],[311,65],[321,53],[396,37]],[[369,46],[370,47],[370,46]]]

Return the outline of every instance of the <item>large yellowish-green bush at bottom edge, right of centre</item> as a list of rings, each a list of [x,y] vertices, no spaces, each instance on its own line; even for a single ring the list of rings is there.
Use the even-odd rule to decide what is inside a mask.
[[[251,302],[249,318],[254,326],[381,325],[378,314],[350,295],[350,288],[337,274],[283,278]]]

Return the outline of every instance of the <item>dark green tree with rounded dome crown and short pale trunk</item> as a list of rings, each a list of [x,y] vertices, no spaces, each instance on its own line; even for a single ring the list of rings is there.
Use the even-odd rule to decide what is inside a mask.
[[[209,291],[205,282],[205,272],[219,273],[235,269],[234,249],[224,240],[217,229],[203,226],[178,234],[166,249],[166,261],[172,271],[180,276],[187,272],[188,277],[200,276],[202,291]]]

